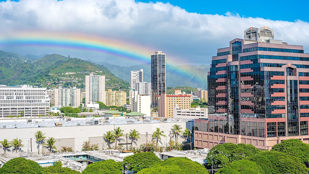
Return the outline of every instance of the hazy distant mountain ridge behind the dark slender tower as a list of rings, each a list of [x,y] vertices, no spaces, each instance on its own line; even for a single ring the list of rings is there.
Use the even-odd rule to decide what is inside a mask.
[[[91,61],[91,60],[88,60]],[[134,65],[130,67],[112,65],[107,62],[95,62],[107,67],[116,76],[130,81],[130,71],[137,71],[139,69],[144,70],[144,81],[151,81],[151,65],[150,63],[144,63],[140,65]],[[209,72],[210,66],[207,65],[182,65],[171,66],[166,65],[166,86],[191,86],[194,88],[207,89],[207,72]]]

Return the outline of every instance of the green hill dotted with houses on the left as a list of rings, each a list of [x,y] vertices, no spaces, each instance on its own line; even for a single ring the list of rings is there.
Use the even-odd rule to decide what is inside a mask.
[[[129,82],[120,79],[106,67],[89,61],[48,54],[41,59],[29,61],[20,54],[0,51],[0,84],[29,84],[42,87],[84,88],[85,75],[105,75],[107,88],[126,88]],[[69,73],[68,73],[69,72]]]

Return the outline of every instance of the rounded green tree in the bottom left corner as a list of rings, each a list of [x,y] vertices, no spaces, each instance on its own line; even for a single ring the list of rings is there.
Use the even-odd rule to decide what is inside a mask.
[[[42,174],[43,167],[25,158],[13,158],[0,167],[0,174]]]

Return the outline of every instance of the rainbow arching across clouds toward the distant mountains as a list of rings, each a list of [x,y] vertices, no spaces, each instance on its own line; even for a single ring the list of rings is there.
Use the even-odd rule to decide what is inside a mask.
[[[45,31],[16,32],[14,35],[0,35],[0,47],[2,46],[46,47],[78,51],[85,50],[142,63],[150,62],[150,54],[155,51],[155,49],[139,46],[134,43],[127,43],[93,35],[85,35],[81,33],[53,33]],[[169,56],[168,54],[166,60],[167,64],[170,65],[176,65],[179,63],[176,57]],[[182,62],[182,64],[186,63],[187,62]],[[178,73],[186,77],[186,79],[196,78],[192,75],[192,72],[186,69],[174,69],[174,73]]]

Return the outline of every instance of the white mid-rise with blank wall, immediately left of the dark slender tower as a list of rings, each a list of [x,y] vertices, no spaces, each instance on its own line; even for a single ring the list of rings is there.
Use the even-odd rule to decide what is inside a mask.
[[[138,94],[137,91],[133,91],[133,93],[130,94],[131,95],[129,96],[129,98],[131,98],[132,101],[131,111],[141,112],[143,114],[146,114],[146,116],[150,116],[151,96]]]

